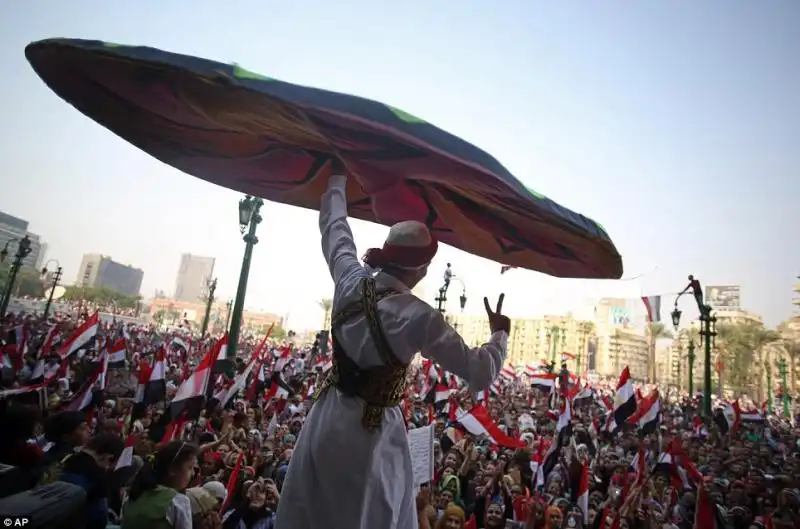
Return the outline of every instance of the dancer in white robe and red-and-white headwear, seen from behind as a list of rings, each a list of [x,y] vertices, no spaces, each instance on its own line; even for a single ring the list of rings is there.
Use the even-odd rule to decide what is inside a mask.
[[[297,439],[281,491],[277,529],[417,529],[405,421],[399,404],[417,354],[488,388],[502,368],[510,328],[484,299],[491,336],[469,347],[444,316],[411,293],[437,242],[416,221],[394,225],[359,263],[347,221],[347,178],[331,176],[320,207],[322,252],[335,283],[333,367]]]

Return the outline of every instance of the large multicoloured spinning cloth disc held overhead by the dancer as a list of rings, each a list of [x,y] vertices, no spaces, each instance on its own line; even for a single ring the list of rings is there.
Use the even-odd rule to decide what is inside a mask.
[[[497,160],[391,106],[154,48],[52,39],[25,50],[75,108],[146,153],[243,193],[318,209],[339,158],[350,215],[425,222],[442,242],[558,277],[616,279],[597,223]]]

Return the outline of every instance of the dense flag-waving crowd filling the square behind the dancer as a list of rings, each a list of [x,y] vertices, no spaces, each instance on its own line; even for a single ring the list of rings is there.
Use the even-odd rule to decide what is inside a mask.
[[[224,336],[87,312],[11,314],[3,336],[0,462],[24,476],[11,492],[72,483],[90,529],[274,527],[327,344],[246,336],[230,369]],[[800,527],[794,417],[719,401],[701,418],[695,396],[626,372],[590,386],[504,369],[478,394],[428,361],[408,376],[408,428],[435,428],[420,528]]]

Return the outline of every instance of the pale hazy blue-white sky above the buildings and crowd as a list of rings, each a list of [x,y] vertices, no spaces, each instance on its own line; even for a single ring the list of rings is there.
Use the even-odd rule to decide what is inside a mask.
[[[512,316],[581,313],[600,295],[741,284],[775,324],[800,273],[800,2],[796,0],[0,2],[0,210],[30,221],[66,279],[100,252],[174,288],[179,255],[217,257],[232,296],[240,196],[140,152],[55,96],[25,45],[100,39],[198,55],[405,109],[497,157],[526,185],[599,221],[622,282],[556,280],[443,248],[470,299]],[[321,321],[332,292],[316,213],[263,209],[247,306]],[[354,222],[360,250],[385,228]],[[454,292],[451,309],[456,308]],[[664,300],[664,318],[671,310]],[[685,304],[688,315],[696,310]]]

